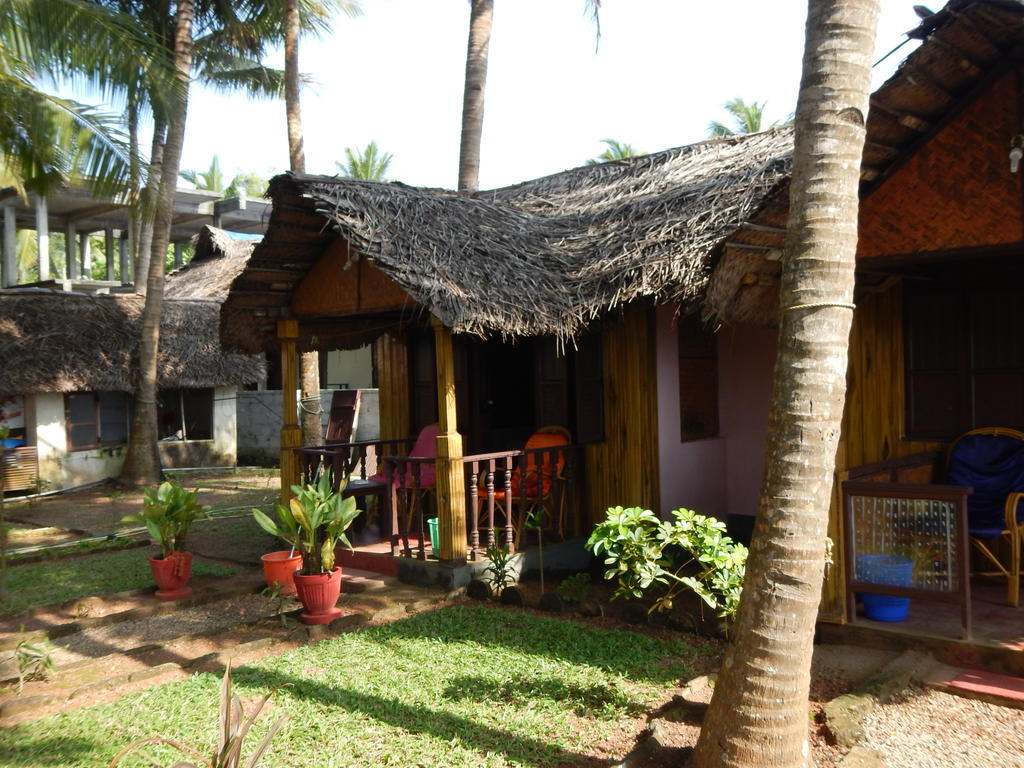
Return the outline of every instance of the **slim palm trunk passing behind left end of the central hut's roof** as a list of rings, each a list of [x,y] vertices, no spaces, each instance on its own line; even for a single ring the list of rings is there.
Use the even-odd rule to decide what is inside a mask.
[[[285,114],[288,118],[288,163],[293,173],[306,171],[299,102],[299,22],[298,0],[285,0]],[[319,352],[303,352],[299,356],[299,378],[302,443],[321,445],[324,430],[319,409]]]

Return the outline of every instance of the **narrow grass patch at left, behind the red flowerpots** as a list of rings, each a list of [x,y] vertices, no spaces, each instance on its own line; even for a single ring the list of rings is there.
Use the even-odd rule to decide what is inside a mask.
[[[7,568],[7,599],[0,601],[0,613],[153,586],[146,559],[151,554],[150,548],[131,549],[12,565]],[[233,572],[219,563],[193,560],[194,577]]]

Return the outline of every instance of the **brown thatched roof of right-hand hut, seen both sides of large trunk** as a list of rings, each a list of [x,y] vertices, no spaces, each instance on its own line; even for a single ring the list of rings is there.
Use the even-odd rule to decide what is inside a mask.
[[[909,37],[922,40],[920,47],[871,94],[861,164],[862,199],[983,89],[1019,66],[1024,4],[1020,0],[950,0]],[[788,184],[781,185],[758,215],[724,244],[705,300],[709,322],[774,323],[788,194]],[[900,215],[899,210],[891,213]]]

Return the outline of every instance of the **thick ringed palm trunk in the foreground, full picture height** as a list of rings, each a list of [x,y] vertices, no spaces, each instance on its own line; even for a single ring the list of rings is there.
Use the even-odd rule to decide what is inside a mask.
[[[810,0],[761,503],[697,768],[804,768],[878,0]]]

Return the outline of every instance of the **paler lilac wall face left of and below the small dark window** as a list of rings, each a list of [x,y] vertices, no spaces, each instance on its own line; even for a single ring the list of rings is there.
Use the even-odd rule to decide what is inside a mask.
[[[659,306],[657,347],[657,457],[663,516],[679,507],[723,518],[726,443],[722,437],[683,442],[679,414],[679,342],[675,307]]]

